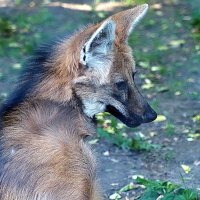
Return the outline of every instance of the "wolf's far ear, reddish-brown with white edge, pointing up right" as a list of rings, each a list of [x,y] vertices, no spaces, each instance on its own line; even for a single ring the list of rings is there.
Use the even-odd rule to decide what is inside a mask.
[[[148,4],[116,13],[111,18],[116,22],[116,34],[118,39],[126,41],[138,22],[144,17],[148,10]]]

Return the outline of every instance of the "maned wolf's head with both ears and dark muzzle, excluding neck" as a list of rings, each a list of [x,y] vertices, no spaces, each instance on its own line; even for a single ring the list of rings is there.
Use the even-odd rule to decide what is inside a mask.
[[[134,83],[135,62],[127,43],[147,9],[144,4],[122,11],[75,36],[82,43],[72,87],[89,117],[108,111],[130,127],[157,117]]]

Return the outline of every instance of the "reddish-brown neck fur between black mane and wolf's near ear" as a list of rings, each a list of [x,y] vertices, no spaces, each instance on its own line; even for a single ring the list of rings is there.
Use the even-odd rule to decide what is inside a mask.
[[[100,24],[90,26],[56,47],[56,54],[46,63],[52,73],[38,85],[33,96],[39,95],[39,98],[50,98],[59,102],[67,102],[72,98],[72,81],[81,71],[80,49],[99,26]]]

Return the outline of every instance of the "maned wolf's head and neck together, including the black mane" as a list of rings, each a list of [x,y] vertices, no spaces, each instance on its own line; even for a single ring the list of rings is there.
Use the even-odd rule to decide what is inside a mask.
[[[157,115],[134,83],[135,62],[127,42],[147,9],[144,4],[119,12],[39,49],[0,114],[30,96],[62,104],[78,97],[91,118],[108,111],[130,127],[153,121]]]

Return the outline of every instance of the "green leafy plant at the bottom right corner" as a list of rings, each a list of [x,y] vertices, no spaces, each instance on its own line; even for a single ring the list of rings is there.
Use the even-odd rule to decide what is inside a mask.
[[[121,199],[130,190],[143,188],[144,192],[138,200],[198,200],[198,192],[195,189],[183,188],[181,185],[169,181],[149,180],[142,176],[133,176],[131,182],[110,196],[110,199]]]

